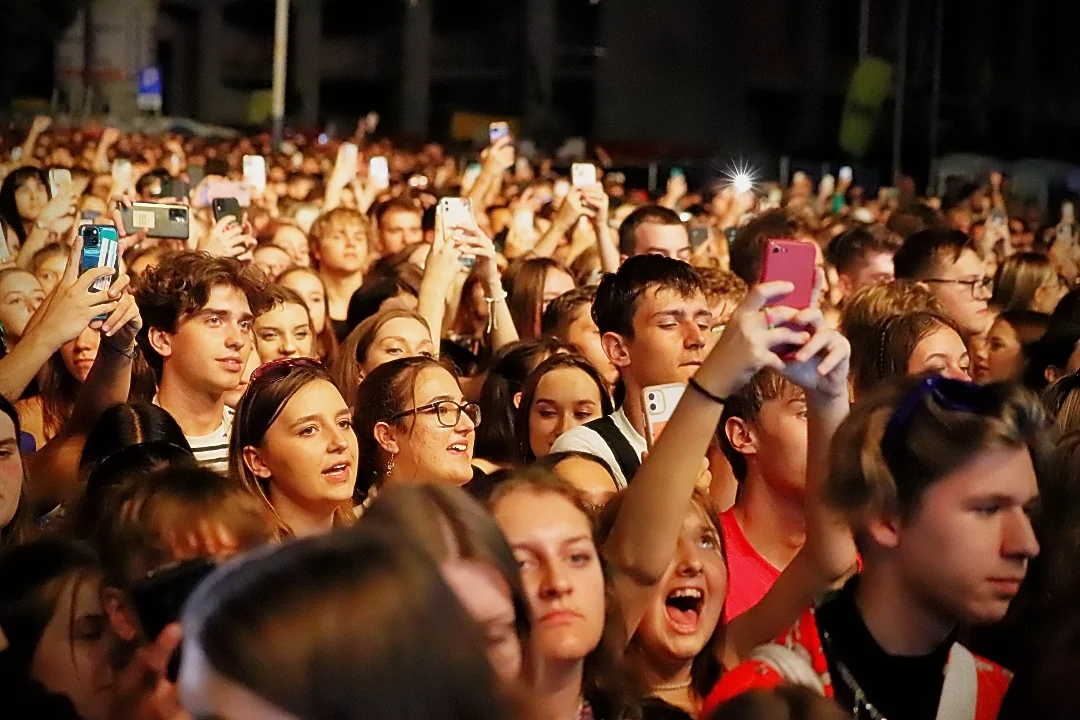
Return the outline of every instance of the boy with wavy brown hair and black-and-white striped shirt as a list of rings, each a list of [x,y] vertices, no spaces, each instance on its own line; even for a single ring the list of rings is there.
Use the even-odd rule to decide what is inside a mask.
[[[258,271],[231,258],[181,253],[147,272],[135,290],[139,344],[158,378],[154,403],[179,423],[200,463],[228,467],[232,410],[252,353],[252,324],[270,307]]]

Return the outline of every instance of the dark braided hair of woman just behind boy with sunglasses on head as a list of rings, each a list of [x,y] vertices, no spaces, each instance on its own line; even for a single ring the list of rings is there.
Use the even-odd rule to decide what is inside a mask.
[[[907,375],[915,348],[943,327],[963,338],[957,324],[944,313],[918,311],[892,315],[874,325],[859,343],[859,354],[851,358],[854,396],[862,397],[889,378]]]

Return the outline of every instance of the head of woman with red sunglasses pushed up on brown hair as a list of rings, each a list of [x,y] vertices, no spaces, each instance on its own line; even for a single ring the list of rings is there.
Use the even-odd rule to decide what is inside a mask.
[[[267,503],[283,535],[349,525],[357,466],[352,415],[322,365],[280,359],[252,375],[237,406],[229,475]]]

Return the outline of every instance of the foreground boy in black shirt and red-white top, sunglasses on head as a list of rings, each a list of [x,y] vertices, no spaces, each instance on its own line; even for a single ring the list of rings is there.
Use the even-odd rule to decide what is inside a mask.
[[[862,572],[726,673],[702,717],[791,682],[858,718],[993,720],[1009,674],[956,637],[1004,617],[1039,552],[1029,513],[1052,447],[1038,400],[897,379],[852,408],[832,449],[825,498],[852,527]]]

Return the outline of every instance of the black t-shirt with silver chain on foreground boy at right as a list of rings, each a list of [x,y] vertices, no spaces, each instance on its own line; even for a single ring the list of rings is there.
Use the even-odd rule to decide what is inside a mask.
[[[855,690],[840,669],[847,668],[870,705],[888,720],[933,720],[937,716],[945,664],[953,639],[927,655],[890,655],[874,639],[855,607],[852,579],[816,611],[836,702],[845,710],[855,705]],[[859,717],[868,717],[862,708]]]

